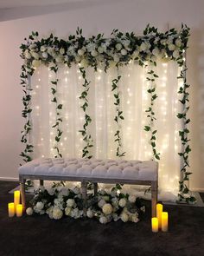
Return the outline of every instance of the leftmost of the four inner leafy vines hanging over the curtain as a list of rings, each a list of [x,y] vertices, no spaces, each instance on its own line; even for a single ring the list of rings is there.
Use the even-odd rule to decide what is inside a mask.
[[[50,67],[50,70],[54,72],[55,75],[57,75],[57,71],[58,71],[58,66],[57,64],[55,64],[54,66]],[[55,78],[54,80],[51,81],[51,84],[52,84],[52,95],[53,95],[53,98],[51,100],[51,102],[54,102],[56,107],[56,121],[54,123],[54,125],[52,126],[52,128],[55,128],[56,129],[56,132],[55,132],[55,142],[56,142],[56,145],[54,146],[54,149],[56,150],[56,154],[54,155],[55,158],[57,157],[62,157],[62,154],[60,152],[60,148],[59,148],[59,143],[61,141],[61,135],[62,135],[62,130],[61,130],[61,123],[62,123],[62,116],[61,116],[61,110],[62,110],[62,107],[63,105],[61,103],[59,103],[59,100],[58,100],[58,96],[57,96],[57,84],[58,84],[58,79]]]

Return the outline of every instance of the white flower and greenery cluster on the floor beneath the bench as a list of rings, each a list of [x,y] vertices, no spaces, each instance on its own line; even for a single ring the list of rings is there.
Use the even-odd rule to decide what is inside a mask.
[[[74,219],[95,217],[102,224],[112,220],[136,223],[139,221],[139,213],[145,211],[135,195],[121,193],[120,185],[116,185],[109,192],[100,190],[96,195],[93,195],[91,189],[88,190],[86,205],[79,187],[70,189],[58,186],[48,190],[39,187],[30,203],[32,207],[26,210],[28,215],[47,213],[54,220],[60,220],[62,216]]]

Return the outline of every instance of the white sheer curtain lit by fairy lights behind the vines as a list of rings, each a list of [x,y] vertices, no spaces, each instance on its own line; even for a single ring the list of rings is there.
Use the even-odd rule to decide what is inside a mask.
[[[145,110],[150,106],[150,96],[146,93],[148,85],[146,72],[137,64],[119,68],[121,80],[119,91],[122,98],[121,110],[124,121],[121,122],[124,159],[150,160],[152,158],[150,135],[143,130],[148,123]],[[180,177],[180,159],[177,152],[181,145],[178,130],[181,126],[176,117],[179,110],[178,75],[175,62],[158,62],[156,74],[156,149],[161,153],[159,161],[159,187],[165,191],[178,191]],[[117,77],[115,68],[107,73],[102,70],[94,72],[86,69],[87,80],[91,81],[89,91],[89,115],[92,117],[90,132],[93,145],[92,155],[95,158],[116,158],[117,144],[114,134],[117,129],[114,121],[115,105],[112,94],[112,79]],[[51,84],[55,74],[47,67],[35,70],[32,76],[32,141],[35,146],[34,157],[54,156],[55,104],[51,102]],[[80,108],[79,96],[82,91],[82,77],[78,66],[61,67],[57,77],[57,97],[62,108],[63,134],[59,148],[63,157],[81,157],[84,142],[79,133],[84,123],[84,114]]]

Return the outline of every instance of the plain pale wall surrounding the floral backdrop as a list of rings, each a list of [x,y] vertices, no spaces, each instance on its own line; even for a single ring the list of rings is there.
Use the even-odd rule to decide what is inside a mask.
[[[141,31],[147,23],[161,30],[179,28],[187,23],[191,28],[188,49],[188,82],[191,116],[190,186],[204,189],[204,2],[202,0],[125,0],[81,1],[47,7],[0,12],[0,177],[16,178],[22,149],[20,131],[23,120],[22,89],[19,85],[21,58],[19,45],[32,30],[42,36],[51,31],[57,36],[73,33],[77,26],[85,36],[114,28]],[[14,19],[22,16],[21,19]],[[13,19],[13,20],[12,20]],[[6,21],[7,20],[7,21]]]

